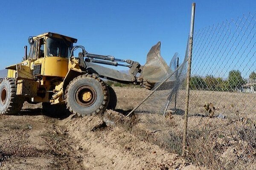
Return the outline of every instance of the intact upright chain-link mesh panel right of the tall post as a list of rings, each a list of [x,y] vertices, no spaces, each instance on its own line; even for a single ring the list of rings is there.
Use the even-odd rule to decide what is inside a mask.
[[[256,13],[194,34],[187,154],[218,170],[256,169]]]

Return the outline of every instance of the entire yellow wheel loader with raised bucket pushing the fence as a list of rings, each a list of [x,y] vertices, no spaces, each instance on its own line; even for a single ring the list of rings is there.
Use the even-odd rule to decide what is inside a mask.
[[[104,79],[141,85],[147,89],[168,73],[169,66],[160,56],[160,42],[148,53],[146,64],[88,53],[74,46],[77,39],[45,33],[29,37],[23,61],[7,67],[7,78],[0,80],[0,114],[17,114],[23,102],[42,102],[48,113],[70,111],[81,116],[114,109],[116,95]],[[74,51],[81,49],[78,57]],[[104,67],[128,67],[128,74]]]

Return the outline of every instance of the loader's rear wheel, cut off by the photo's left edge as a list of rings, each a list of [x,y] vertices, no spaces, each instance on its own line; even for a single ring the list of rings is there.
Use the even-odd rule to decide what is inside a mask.
[[[22,96],[17,96],[15,79],[5,78],[0,84],[0,114],[12,115],[21,111],[24,103]]]

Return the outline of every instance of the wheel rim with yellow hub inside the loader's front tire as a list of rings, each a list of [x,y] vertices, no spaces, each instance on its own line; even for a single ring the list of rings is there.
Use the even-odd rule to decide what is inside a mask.
[[[96,101],[97,95],[94,88],[89,85],[83,85],[76,90],[76,102],[82,107],[89,107]]]

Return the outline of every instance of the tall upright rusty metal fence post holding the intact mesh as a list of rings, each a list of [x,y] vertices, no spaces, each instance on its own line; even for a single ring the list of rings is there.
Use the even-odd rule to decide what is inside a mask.
[[[188,71],[186,74],[186,109],[184,114],[182,156],[186,156],[186,137],[187,137],[188,113],[189,113],[189,84],[190,84],[190,76],[191,76],[194,21],[195,21],[195,3],[192,3],[191,24],[190,24],[190,33],[189,33]]]

